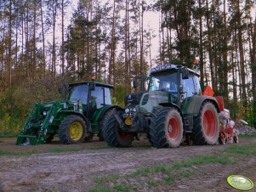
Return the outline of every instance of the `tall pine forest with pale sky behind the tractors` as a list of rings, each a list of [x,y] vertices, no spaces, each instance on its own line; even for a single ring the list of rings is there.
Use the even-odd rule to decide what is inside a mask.
[[[198,58],[202,89],[223,95],[233,119],[256,127],[256,1],[0,0],[0,135],[20,131],[36,101],[63,83],[90,80],[133,90],[151,67]],[[158,26],[145,24],[154,13]],[[155,16],[154,16],[155,17]],[[68,23],[68,25],[66,25]]]

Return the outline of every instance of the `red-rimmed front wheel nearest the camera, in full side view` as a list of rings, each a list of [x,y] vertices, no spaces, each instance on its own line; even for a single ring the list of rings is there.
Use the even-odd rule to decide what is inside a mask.
[[[150,134],[151,144],[156,148],[179,147],[183,138],[183,121],[179,111],[175,108],[153,111]]]

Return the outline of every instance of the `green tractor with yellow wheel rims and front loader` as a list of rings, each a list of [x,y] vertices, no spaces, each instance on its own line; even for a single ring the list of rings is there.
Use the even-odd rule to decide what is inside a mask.
[[[111,104],[111,88],[110,84],[94,81],[61,87],[64,101],[36,103],[16,145],[48,143],[55,134],[59,134],[61,144],[89,141],[95,133],[104,140],[101,127],[106,116],[117,108]]]

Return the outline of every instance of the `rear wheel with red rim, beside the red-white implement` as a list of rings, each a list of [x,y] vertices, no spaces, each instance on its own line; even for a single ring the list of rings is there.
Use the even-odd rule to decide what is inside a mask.
[[[219,116],[212,102],[204,102],[194,119],[193,144],[216,144],[219,139]]]

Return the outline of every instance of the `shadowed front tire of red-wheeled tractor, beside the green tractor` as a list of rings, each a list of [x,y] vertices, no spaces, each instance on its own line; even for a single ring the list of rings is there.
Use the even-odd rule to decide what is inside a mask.
[[[116,115],[122,118],[123,110],[113,110],[106,116],[105,125],[102,129],[105,141],[113,147],[129,147],[134,140],[134,133],[125,133],[120,128]]]

